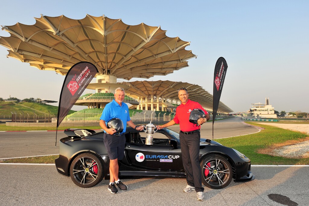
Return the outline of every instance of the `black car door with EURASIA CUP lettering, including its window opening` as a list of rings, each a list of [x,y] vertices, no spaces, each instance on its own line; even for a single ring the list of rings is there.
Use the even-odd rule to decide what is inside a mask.
[[[152,134],[153,145],[145,145],[144,132],[131,133],[125,145],[128,162],[138,168],[150,170],[180,171],[183,169],[180,147],[169,144],[169,137],[163,133]]]

